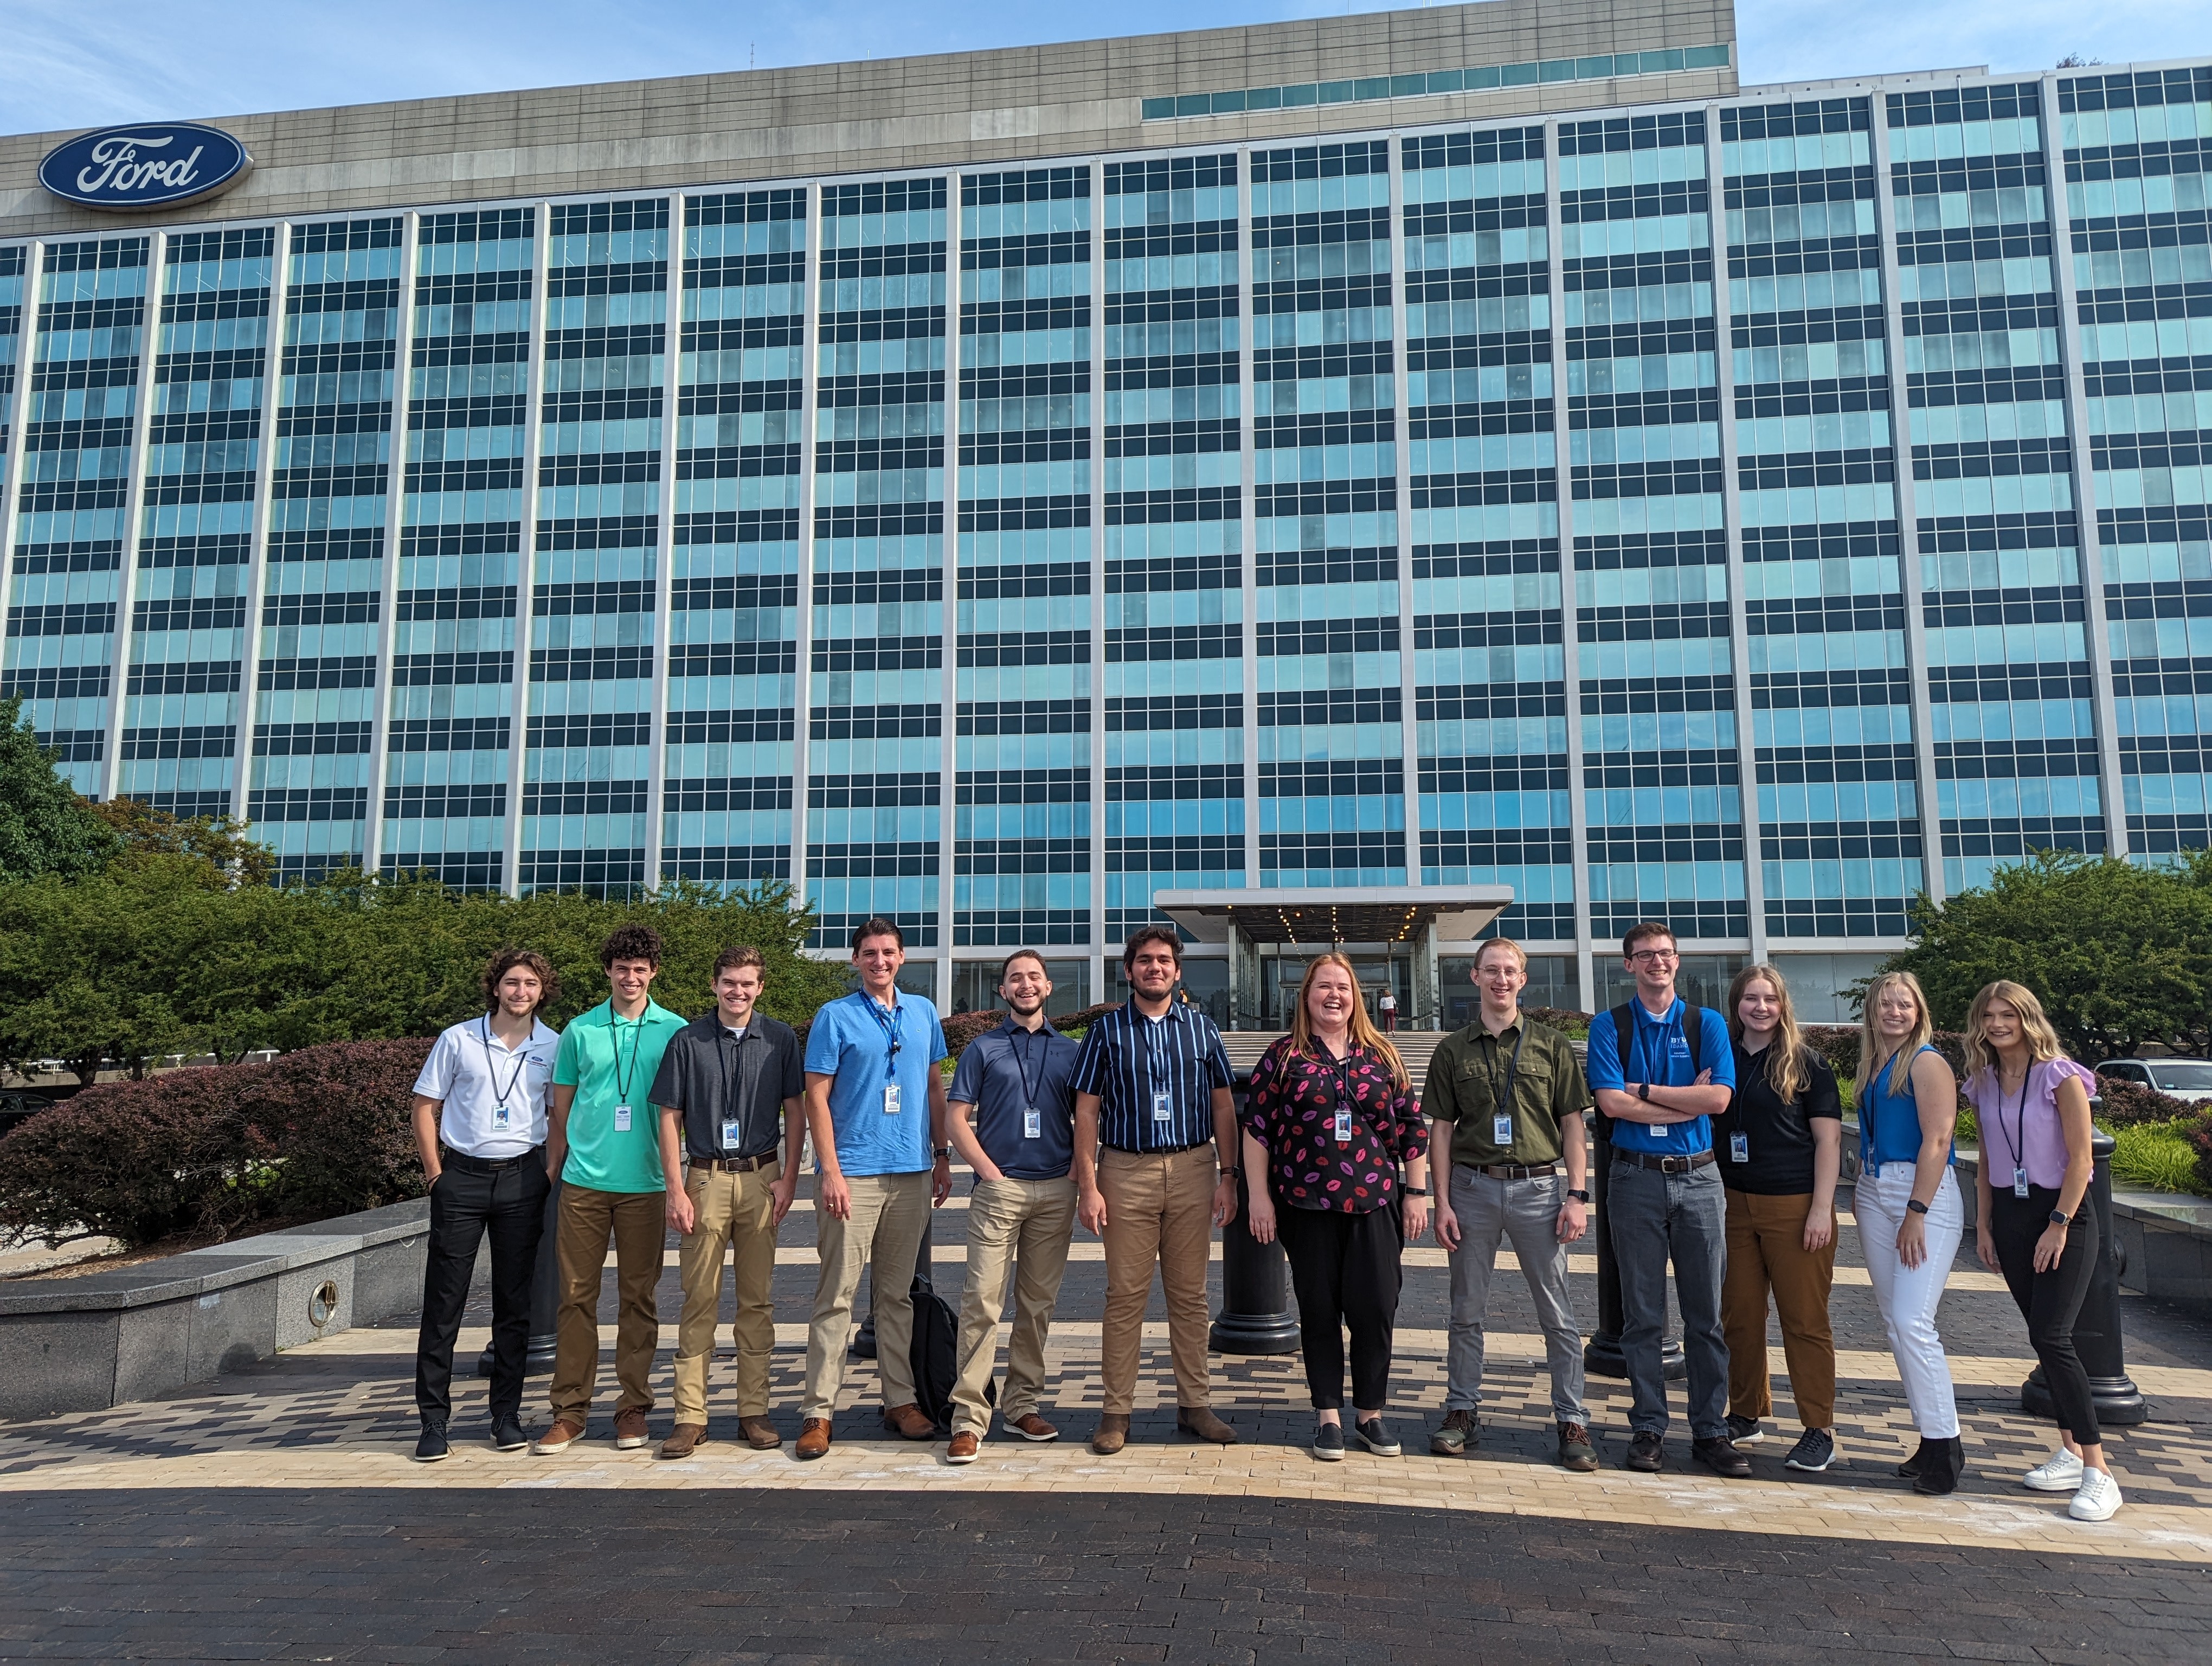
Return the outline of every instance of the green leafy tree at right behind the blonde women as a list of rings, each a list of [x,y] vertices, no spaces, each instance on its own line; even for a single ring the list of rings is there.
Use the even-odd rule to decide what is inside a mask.
[[[1958,1029],[1982,985],[2024,982],[2066,1049],[2099,1062],[2143,1042],[2201,1049],[2212,1035],[2212,861],[2139,867],[2037,852],[1989,883],[1913,912],[1913,947],[1889,960]]]

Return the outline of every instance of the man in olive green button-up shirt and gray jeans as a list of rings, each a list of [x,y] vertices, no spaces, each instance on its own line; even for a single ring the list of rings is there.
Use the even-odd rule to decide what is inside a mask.
[[[1444,1425],[1429,1451],[1455,1458],[1478,1440],[1482,1316],[1498,1246],[1511,1239],[1544,1325],[1559,1465],[1588,1471],[1597,1469],[1597,1451],[1582,1405],[1582,1327],[1566,1297],[1566,1246],[1588,1230],[1582,1113],[1590,1089],[1566,1035],[1522,1016],[1526,982],[1528,956],[1517,943],[1482,945],[1482,1009],[1436,1049],[1420,1095],[1436,1124],[1429,1150],[1451,1153],[1451,1179],[1436,1195],[1436,1237],[1451,1254],[1451,1356]]]

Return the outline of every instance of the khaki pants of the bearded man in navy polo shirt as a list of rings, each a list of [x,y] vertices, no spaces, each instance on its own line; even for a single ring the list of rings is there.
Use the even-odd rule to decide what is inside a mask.
[[[969,1199],[969,1277],[960,1299],[960,1381],[953,1385],[953,1434],[991,1427],[982,1392],[998,1358],[998,1316],[1013,1292],[1013,1334],[1006,1341],[1006,1392],[998,1414],[1020,1423],[1037,1409],[1044,1387],[1044,1334],[1053,1327],[1060,1279],[1075,1237],[1075,1181],[982,1179]],[[1013,1266],[1009,1268],[1009,1259]]]

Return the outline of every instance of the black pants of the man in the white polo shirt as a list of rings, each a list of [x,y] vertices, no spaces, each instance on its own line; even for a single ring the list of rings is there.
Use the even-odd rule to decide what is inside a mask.
[[[491,1416],[522,1412],[531,1279],[551,1190],[544,1148],[491,1175],[447,1164],[429,1188],[422,1332],[416,1336],[416,1409],[425,1423],[442,1423],[453,1412],[453,1339],[484,1232],[491,1232]]]

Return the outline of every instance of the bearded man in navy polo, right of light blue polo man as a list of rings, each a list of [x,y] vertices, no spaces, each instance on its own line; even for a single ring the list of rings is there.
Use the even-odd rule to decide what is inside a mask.
[[[969,1199],[969,1277],[960,1301],[960,1381],[953,1387],[953,1440],[945,1456],[973,1462],[991,1429],[984,1387],[998,1358],[998,1316],[1006,1274],[1018,1272],[1006,1394],[998,1409],[1024,1440],[1057,1440],[1037,1416],[1044,1387],[1044,1334],[1060,1301],[1075,1235],[1075,1058],[1082,1049],[1051,1027],[1044,1000],[1053,980],[1035,949],[1015,949],[998,973],[1013,1013],[960,1055],[951,1086],[953,1148],[975,1168]],[[1013,1257],[1013,1268],[1009,1268]]]

